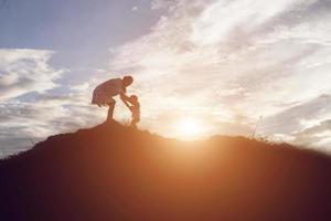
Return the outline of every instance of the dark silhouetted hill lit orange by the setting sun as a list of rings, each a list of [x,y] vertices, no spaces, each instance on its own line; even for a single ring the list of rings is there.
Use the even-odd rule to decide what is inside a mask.
[[[331,220],[331,159],[102,124],[0,161],[0,220]]]

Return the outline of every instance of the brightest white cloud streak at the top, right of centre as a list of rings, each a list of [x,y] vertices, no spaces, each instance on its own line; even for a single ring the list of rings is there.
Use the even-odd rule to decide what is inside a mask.
[[[215,44],[226,41],[237,28],[249,34],[300,1],[215,1],[193,22],[192,40],[197,44]]]

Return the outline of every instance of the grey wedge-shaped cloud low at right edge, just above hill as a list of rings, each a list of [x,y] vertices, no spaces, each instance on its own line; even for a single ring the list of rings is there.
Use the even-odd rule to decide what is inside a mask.
[[[298,146],[330,151],[330,119],[331,95],[321,95],[267,117],[261,122],[259,133]]]

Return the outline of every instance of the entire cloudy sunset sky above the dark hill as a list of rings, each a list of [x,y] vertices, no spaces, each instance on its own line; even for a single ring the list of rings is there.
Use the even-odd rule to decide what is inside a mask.
[[[1,151],[103,123],[93,90],[130,74],[142,129],[331,152],[330,12],[329,0],[1,1]],[[120,102],[115,117],[130,118]]]

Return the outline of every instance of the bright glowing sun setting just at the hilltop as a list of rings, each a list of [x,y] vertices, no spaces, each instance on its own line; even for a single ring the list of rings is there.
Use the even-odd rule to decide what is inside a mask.
[[[177,124],[177,135],[182,139],[196,139],[203,134],[201,122],[192,117],[185,117]]]

